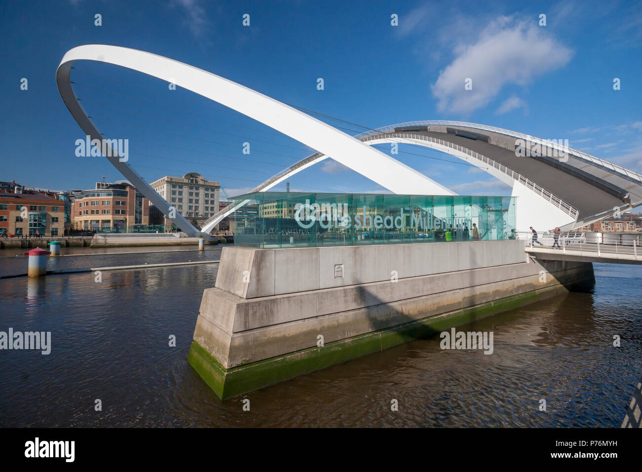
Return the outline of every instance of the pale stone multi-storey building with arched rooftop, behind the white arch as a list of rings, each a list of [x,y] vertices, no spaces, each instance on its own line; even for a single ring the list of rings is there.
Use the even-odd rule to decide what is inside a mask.
[[[166,175],[152,182],[150,186],[169,205],[175,207],[177,213],[182,214],[194,225],[200,226],[219,210],[220,184],[206,180],[200,173],[189,172],[183,177]],[[171,220],[156,207],[152,206],[150,216],[154,223],[166,227],[172,225]]]

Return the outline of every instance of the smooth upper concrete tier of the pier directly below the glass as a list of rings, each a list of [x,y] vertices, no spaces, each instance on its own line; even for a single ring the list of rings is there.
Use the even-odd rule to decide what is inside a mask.
[[[344,247],[225,247],[216,288],[246,299],[523,263],[525,241]],[[334,277],[334,265],[343,277]]]

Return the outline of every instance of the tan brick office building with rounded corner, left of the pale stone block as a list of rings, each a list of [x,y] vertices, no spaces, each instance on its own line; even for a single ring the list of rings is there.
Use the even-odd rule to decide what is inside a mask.
[[[128,183],[96,182],[96,189],[74,191],[74,229],[132,232],[150,224],[150,202]]]

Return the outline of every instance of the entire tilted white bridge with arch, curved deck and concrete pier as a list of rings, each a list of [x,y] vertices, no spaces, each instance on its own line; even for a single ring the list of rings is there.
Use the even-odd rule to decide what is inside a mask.
[[[587,290],[595,282],[593,261],[642,263],[636,241],[612,245],[568,234],[642,204],[639,173],[568,146],[461,121],[413,121],[351,136],[243,85],[175,60],[116,46],[79,46],[62,58],[56,82],[73,118],[98,144],[107,140],[72,89],[70,72],[76,60],[114,64],[175,83],[317,150],[252,193],[238,196],[198,229],[172,211],[126,159],[121,161],[117,152],[103,146],[105,158],[190,236],[208,234],[247,199],[257,198],[257,192],[265,196],[263,192],[328,157],[409,202],[415,197],[453,202],[458,198],[443,197],[455,193],[372,146],[380,143],[426,146],[451,154],[505,182],[517,197],[507,198],[517,201],[516,211],[507,212],[515,217],[510,222],[517,230],[512,238],[475,238],[471,243],[469,237],[453,240],[447,229],[445,240],[438,244],[418,244],[425,240],[404,240],[404,234],[394,233],[393,238],[402,239],[383,247],[377,244],[381,240],[354,230],[355,225],[351,240],[340,245],[324,245],[324,237],[319,240],[316,233],[313,243],[297,246],[291,236],[289,244],[266,245],[271,233],[263,231],[261,222],[255,226],[258,231],[237,235],[259,241],[247,239],[254,245],[241,245],[235,237],[235,246],[221,252],[216,283],[204,290],[187,358],[221,399],[493,313]],[[333,198],[342,204],[345,194]],[[387,210],[386,219],[392,220],[391,211]],[[359,222],[370,216],[366,213],[363,206]],[[377,217],[381,222],[381,214],[373,218],[375,228]],[[403,209],[395,218],[404,224]],[[277,218],[257,216],[260,219]],[[517,237],[531,225],[560,227],[564,232],[553,234],[546,249],[541,241],[534,248],[530,233]]]

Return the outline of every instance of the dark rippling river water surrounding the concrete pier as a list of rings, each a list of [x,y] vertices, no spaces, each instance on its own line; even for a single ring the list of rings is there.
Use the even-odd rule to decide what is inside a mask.
[[[66,259],[121,263],[101,257]],[[220,401],[187,364],[217,266],[0,280],[0,331],[52,338],[49,355],[0,351],[0,426],[620,426],[642,375],[642,267],[596,264],[593,293],[458,328],[492,331],[492,355],[417,340]]]

